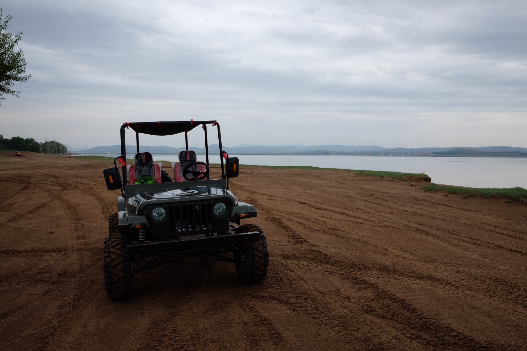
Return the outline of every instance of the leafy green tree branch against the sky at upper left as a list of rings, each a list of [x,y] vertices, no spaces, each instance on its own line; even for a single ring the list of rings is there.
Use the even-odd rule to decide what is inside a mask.
[[[20,97],[20,92],[12,89],[13,85],[31,77],[31,74],[25,74],[27,62],[22,49],[15,49],[22,40],[22,32],[15,35],[7,32],[12,16],[8,15],[2,21],[3,14],[4,10],[0,8],[0,106],[5,95]]]

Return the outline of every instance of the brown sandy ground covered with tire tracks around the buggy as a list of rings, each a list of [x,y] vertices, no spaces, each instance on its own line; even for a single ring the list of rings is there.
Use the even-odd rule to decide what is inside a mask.
[[[264,283],[188,258],[106,297],[104,164],[0,155],[2,350],[526,349],[527,206],[340,171],[242,168]]]

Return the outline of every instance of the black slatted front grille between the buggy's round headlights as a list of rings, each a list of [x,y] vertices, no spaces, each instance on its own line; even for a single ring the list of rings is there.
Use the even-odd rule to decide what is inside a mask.
[[[204,233],[212,229],[212,204],[196,203],[169,206],[168,219],[170,232]]]

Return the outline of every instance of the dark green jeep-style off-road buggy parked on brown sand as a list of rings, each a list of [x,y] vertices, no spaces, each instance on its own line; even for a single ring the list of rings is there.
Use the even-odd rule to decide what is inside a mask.
[[[104,240],[104,284],[110,298],[131,297],[134,274],[186,256],[232,262],[246,283],[259,283],[267,276],[269,254],[264,232],[256,225],[240,225],[241,219],[257,216],[256,208],[239,201],[229,190],[229,178],[238,176],[238,158],[222,151],[221,178],[210,179],[207,125],[218,129],[222,151],[216,121],[121,126],[121,155],[114,159],[114,167],[103,172],[109,190],[121,189],[117,212],[108,218],[109,235]],[[197,162],[196,153],[189,150],[188,133],[198,126],[204,132],[206,162]],[[126,165],[128,128],[135,132],[137,144],[133,165]],[[186,150],[179,154],[180,162],[172,164],[174,182],[150,153],[139,151],[140,133],[184,133]]]

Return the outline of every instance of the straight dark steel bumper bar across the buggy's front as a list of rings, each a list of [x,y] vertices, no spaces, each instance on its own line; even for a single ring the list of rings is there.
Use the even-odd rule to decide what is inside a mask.
[[[177,253],[200,248],[207,250],[207,248],[212,247],[257,242],[258,240],[260,240],[259,232],[207,236],[193,239],[165,240],[163,242],[129,244],[128,254],[133,256],[153,253]]]

